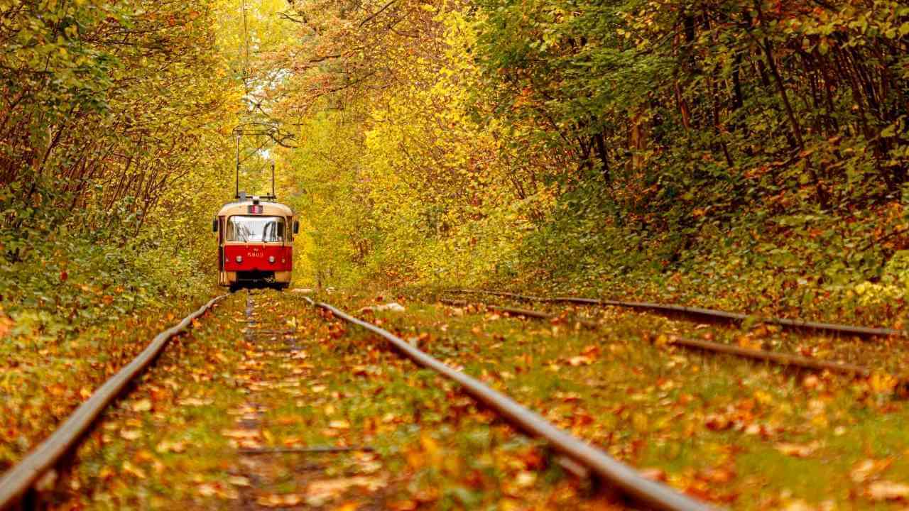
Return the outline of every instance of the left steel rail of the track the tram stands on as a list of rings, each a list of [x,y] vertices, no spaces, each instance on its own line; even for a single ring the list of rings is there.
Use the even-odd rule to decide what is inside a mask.
[[[98,387],[95,393],[76,408],[75,412],[51,436],[48,436],[28,456],[0,476],[0,510],[15,506],[29,488],[35,485],[35,481],[47,470],[53,468],[60,458],[78,443],[95,419],[105,410],[105,407],[123,391],[135,376],[155,360],[171,337],[184,332],[195,318],[205,314],[205,311],[226,296],[212,298],[193,314],[186,316],[183,321],[155,336],[142,353],[105,381],[104,385]]]

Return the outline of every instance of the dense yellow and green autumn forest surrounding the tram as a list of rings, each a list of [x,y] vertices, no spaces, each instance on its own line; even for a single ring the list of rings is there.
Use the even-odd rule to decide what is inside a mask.
[[[0,45],[22,328],[205,293],[249,123],[307,285],[809,315],[909,286],[901,2],[5,0]]]

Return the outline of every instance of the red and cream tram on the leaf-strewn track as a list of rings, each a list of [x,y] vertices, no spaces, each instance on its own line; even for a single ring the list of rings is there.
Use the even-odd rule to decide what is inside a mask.
[[[290,286],[294,235],[300,230],[294,212],[274,195],[225,204],[212,223],[218,233],[218,284],[240,287]]]

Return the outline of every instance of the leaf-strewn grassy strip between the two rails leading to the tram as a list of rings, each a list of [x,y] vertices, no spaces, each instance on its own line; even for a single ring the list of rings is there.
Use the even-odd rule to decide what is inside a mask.
[[[581,499],[584,483],[564,476],[537,442],[372,336],[290,294],[254,299],[253,328],[294,332],[246,336],[245,298],[232,296],[105,415],[74,474],[57,485],[57,506],[586,509],[599,502]],[[244,439],[232,432],[250,404],[261,410],[249,426],[256,446],[376,452],[241,456]],[[124,434],[133,430],[139,434]]]

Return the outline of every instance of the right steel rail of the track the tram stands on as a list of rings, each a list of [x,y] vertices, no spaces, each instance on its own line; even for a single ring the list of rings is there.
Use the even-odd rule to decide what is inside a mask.
[[[440,375],[458,383],[467,394],[493,409],[512,425],[531,436],[544,438],[564,456],[568,456],[588,467],[604,483],[618,488],[624,496],[630,497],[635,502],[654,509],[672,511],[706,511],[713,509],[712,506],[695,500],[690,496],[684,496],[669,486],[641,476],[631,466],[627,466],[612,456],[605,454],[602,450],[585,443],[575,436],[569,435],[546,421],[542,416],[519,405],[514,399],[496,392],[471,376],[446,366],[433,356],[429,356],[415,346],[411,346],[404,339],[391,334],[387,330],[350,316],[335,306],[324,302],[315,302],[307,296],[305,296],[305,299],[313,306],[330,311],[348,323],[361,326],[375,335],[385,338],[386,341],[395,346],[404,356],[410,358],[416,365],[433,369]]]

